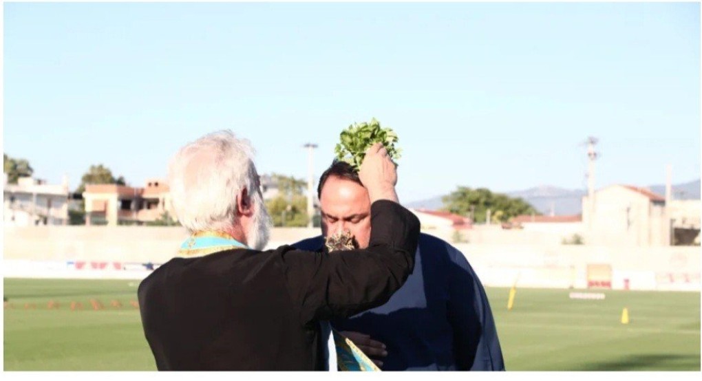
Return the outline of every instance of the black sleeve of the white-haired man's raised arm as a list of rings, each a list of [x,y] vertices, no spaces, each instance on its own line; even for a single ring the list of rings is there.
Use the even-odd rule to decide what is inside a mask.
[[[385,304],[414,267],[419,220],[398,203],[371,205],[371,239],[364,250],[314,253],[279,248],[300,320],[347,317]]]

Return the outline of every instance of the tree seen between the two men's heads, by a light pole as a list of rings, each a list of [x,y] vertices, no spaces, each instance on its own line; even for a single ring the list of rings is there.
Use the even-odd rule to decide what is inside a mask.
[[[273,173],[271,178],[278,185],[278,195],[265,201],[273,226],[307,226],[307,197],[303,193],[305,181],[292,176]]]

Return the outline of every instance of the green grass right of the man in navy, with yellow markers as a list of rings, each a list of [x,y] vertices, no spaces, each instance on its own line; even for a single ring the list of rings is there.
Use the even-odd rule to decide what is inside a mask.
[[[487,290],[508,370],[700,370],[700,293],[570,291]]]

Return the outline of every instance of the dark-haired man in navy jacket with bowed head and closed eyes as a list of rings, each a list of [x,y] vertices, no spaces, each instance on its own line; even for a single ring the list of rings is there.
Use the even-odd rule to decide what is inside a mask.
[[[322,236],[294,246],[326,252],[325,239],[345,232],[365,248],[378,225],[360,173],[334,161],[319,179]],[[333,258],[343,251],[332,251]],[[331,325],[382,370],[505,370],[485,290],[463,254],[449,243],[420,234],[415,267],[406,283],[380,307],[335,318]],[[329,325],[322,323],[325,335]],[[335,346],[330,345],[331,370]],[[331,354],[331,355],[330,355]]]

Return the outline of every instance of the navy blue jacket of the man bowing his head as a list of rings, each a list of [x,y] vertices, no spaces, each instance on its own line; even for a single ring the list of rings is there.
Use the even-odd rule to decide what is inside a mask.
[[[324,238],[293,246],[324,250]],[[505,370],[482,283],[463,253],[429,234],[420,234],[414,272],[385,305],[331,324],[383,342],[383,370]]]

